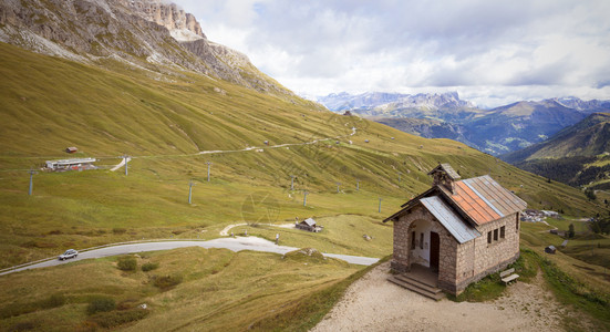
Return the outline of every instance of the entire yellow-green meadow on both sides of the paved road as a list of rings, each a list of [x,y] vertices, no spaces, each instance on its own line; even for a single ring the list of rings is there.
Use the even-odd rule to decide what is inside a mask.
[[[247,225],[235,234],[269,240],[280,234],[283,246],[382,258],[392,251],[392,225],[382,220],[430,187],[427,172],[438,163],[463,178],[488,174],[531,208],[573,218],[604,212],[599,199],[461,143],[333,114],[293,95],[186,71],[79,64],[3,43],[0,53],[0,268],[68,248],[213,239],[236,224]],[[65,154],[68,146],[79,153]],[[128,175],[111,172],[124,155],[132,158]],[[100,169],[41,169],[45,160],[68,157],[97,158]],[[30,169],[38,172],[31,196]],[[309,217],[324,226],[322,232],[265,225]],[[535,250],[561,242],[544,225],[524,225],[521,238]],[[606,240],[600,250],[608,250]],[[597,263],[606,262],[578,255],[550,259],[596,283],[592,273],[602,273]],[[145,253],[135,258],[135,271],[118,270],[118,259],[1,277],[0,325],[92,330],[107,320],[132,330],[303,330],[363,271],[318,256],[197,248]],[[146,263],[158,268],[142,271]],[[138,311],[143,303],[148,311]],[[319,310],[308,312],[311,305]],[[95,308],[111,309],[87,313]]]

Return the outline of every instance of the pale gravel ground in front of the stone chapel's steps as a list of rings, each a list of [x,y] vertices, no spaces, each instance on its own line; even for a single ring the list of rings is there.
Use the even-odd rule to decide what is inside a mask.
[[[544,288],[541,272],[497,300],[458,303],[403,289],[386,280],[389,270],[385,262],[355,281],[311,331],[562,331],[572,315]]]

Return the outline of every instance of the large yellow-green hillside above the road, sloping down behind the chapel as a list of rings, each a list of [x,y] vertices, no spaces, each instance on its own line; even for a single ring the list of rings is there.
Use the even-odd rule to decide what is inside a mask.
[[[107,63],[113,68],[107,71],[7,44],[0,52],[2,267],[66,247],[214,238],[228,224],[259,219],[361,215],[379,222],[430,187],[426,173],[437,163],[451,163],[464,178],[490,174],[534,208],[575,216],[599,211],[573,188],[463,144],[412,136],[300,98],[189,72],[161,75],[120,63]],[[293,145],[273,147],[281,144]],[[28,170],[70,157],[66,146],[79,147],[77,156],[100,158],[101,169],[40,172],[28,196]],[[133,157],[128,176],[110,172],[124,154]],[[213,163],[210,181],[206,162]],[[290,175],[297,176],[294,190]],[[251,201],[260,201],[261,209],[245,209]],[[294,243],[303,242],[297,238]],[[355,247],[341,251],[368,251]]]

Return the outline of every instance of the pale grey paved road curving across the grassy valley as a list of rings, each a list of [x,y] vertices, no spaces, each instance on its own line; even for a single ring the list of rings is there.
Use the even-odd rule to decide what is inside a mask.
[[[275,253],[287,253],[299,248],[286,247],[286,246],[276,246],[271,241],[267,241],[257,237],[237,237],[237,238],[219,238],[208,241],[158,241],[158,242],[142,242],[142,243],[130,243],[130,245],[118,245],[113,247],[93,249],[89,251],[83,251],[79,253],[79,257],[60,261],[58,259],[50,259],[43,262],[35,264],[21,267],[8,271],[0,272],[0,276],[8,274],[17,271],[28,270],[28,269],[38,269],[59,266],[76,260],[91,259],[91,258],[101,258],[108,256],[126,255],[126,253],[136,253],[144,251],[156,251],[156,250],[169,250],[176,248],[185,247],[203,247],[203,248],[225,248],[232,251],[241,250],[252,250],[252,251],[263,251],[263,252],[275,252]],[[325,257],[342,259],[352,264],[360,266],[370,266],[379,261],[378,258],[371,257],[360,257],[360,256],[349,256],[349,255],[337,255],[337,253],[323,253]]]

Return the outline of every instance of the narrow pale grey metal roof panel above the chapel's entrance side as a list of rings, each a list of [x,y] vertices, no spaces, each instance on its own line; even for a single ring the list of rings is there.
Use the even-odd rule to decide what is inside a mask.
[[[445,204],[441,197],[426,197],[422,198],[420,201],[441,224],[443,224],[459,243],[467,242],[480,236],[478,230],[469,226],[454,211],[454,209]]]

